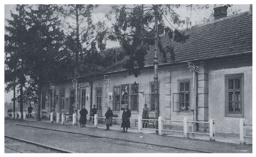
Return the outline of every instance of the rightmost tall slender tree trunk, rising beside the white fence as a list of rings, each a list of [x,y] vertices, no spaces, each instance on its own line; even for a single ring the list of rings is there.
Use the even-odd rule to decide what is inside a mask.
[[[158,6],[154,6],[154,107],[155,119],[159,117],[159,84],[158,84]],[[155,128],[158,129],[158,121],[155,121]],[[158,134],[158,130],[156,131]]]

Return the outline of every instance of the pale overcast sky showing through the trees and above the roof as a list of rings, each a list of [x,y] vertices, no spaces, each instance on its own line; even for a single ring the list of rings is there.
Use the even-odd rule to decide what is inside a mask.
[[[128,7],[132,7],[133,5],[130,4]],[[203,18],[207,18],[211,15],[213,11],[213,5],[210,5],[208,9],[198,9],[194,4],[192,8],[186,7],[187,4],[182,4],[180,8],[174,8],[174,11],[180,15],[180,17],[189,17],[192,21],[192,25],[197,25],[203,23]],[[109,4],[102,4],[100,5],[93,13],[93,23],[97,23],[97,21],[106,20],[104,17],[106,13],[111,10],[111,6]],[[228,12],[231,13],[233,11],[238,11],[238,13],[243,13],[249,10],[248,4],[237,4],[233,5],[232,7],[228,8]],[[14,4],[5,4],[4,5],[4,18],[10,19],[11,13],[16,13],[15,5]],[[166,22],[168,25],[168,22]],[[6,24],[6,23],[5,23]],[[117,42],[107,42],[106,48],[116,47],[119,46]],[[11,98],[13,97],[13,92],[4,93],[4,102],[11,102]]]

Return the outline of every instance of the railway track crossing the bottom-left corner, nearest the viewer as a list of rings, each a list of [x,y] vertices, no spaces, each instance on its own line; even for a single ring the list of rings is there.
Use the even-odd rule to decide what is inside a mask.
[[[51,147],[51,146],[47,146],[47,145],[44,145],[44,144],[39,144],[39,143],[31,142],[31,141],[28,141],[28,140],[23,140],[23,139],[12,137],[12,136],[4,135],[4,138],[11,139],[11,140],[16,140],[16,141],[19,141],[21,143],[26,143],[26,144],[34,145],[36,147],[40,147],[40,148],[49,150],[49,153],[74,153],[74,152],[71,152],[71,151],[66,151],[66,150],[63,150],[63,149],[54,148],[54,147]],[[27,152],[22,152],[21,150],[18,150],[18,149],[10,148],[10,146],[5,146],[4,145],[4,147],[6,149],[10,149],[10,150],[18,152],[18,153],[27,153]],[[34,152],[34,153],[37,153],[37,152]]]

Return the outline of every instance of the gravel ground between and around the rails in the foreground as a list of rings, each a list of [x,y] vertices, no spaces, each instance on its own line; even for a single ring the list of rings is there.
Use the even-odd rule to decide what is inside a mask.
[[[123,140],[22,127],[14,123],[5,124],[5,135],[76,153],[199,153],[196,151],[173,149]],[[5,146],[11,149],[18,149],[22,153],[55,153],[49,152],[50,150],[44,152],[47,149],[31,144],[24,144],[23,142],[13,142],[10,139],[5,142]],[[5,148],[5,153],[15,153],[11,149]],[[16,153],[18,152],[16,151]]]

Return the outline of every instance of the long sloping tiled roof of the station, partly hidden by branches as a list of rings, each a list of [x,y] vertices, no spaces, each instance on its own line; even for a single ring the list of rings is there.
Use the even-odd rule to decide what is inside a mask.
[[[252,51],[252,14],[248,12],[193,26],[190,30],[183,31],[186,35],[190,34],[189,39],[183,44],[174,42],[173,39],[169,40],[168,36],[160,36],[163,47],[170,42],[174,46],[174,62]],[[117,47],[115,50],[118,54],[123,48]],[[168,52],[167,58],[167,63],[170,63]],[[128,56],[125,56],[123,60],[116,61],[108,67],[98,67],[97,72],[81,73],[80,76],[124,70],[123,64],[127,59]],[[153,65],[153,60],[154,45],[147,51],[145,66]],[[161,63],[163,57],[159,53],[159,64]]]

